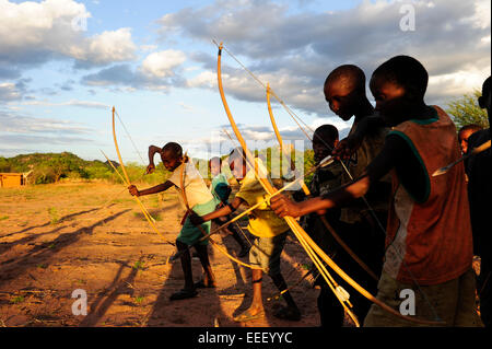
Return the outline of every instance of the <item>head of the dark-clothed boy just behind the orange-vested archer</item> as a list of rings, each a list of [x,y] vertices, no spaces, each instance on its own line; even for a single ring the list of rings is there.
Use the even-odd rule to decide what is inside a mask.
[[[348,121],[366,100],[365,74],[356,66],[340,66],[326,78],[324,92],[331,112]]]

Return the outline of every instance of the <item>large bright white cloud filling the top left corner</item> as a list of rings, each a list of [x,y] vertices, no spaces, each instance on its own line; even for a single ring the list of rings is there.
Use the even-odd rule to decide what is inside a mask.
[[[0,62],[15,69],[61,58],[74,59],[79,66],[134,59],[137,46],[129,28],[86,37],[72,25],[77,19],[90,18],[85,5],[73,0],[0,0]]]

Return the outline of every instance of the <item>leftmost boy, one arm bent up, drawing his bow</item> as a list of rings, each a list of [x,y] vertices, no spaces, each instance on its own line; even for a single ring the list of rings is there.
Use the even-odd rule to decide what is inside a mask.
[[[161,193],[167,190],[171,187],[174,187],[179,193],[179,200],[181,201],[183,207],[185,207],[185,203],[184,197],[181,196],[184,195],[183,191],[186,190],[186,198],[192,212],[196,212],[198,214],[207,214],[215,209],[215,200],[213,199],[212,194],[207,188],[192,161],[183,156],[183,149],[178,143],[168,142],[162,149],[155,146],[150,146],[149,166],[147,167],[148,173],[152,173],[155,170],[155,153],[159,153],[161,155],[164,167],[166,167],[167,171],[172,172],[171,177],[165,183],[159,184],[144,190],[138,190],[134,185],[131,185],[128,187],[131,195],[150,195]],[[184,166],[186,167],[183,168]],[[185,171],[185,177],[183,181],[184,185],[181,185],[181,171]],[[181,186],[184,186],[184,188]],[[187,212],[187,214],[189,212]],[[209,232],[210,225],[210,222],[208,222],[201,224],[201,228],[206,232]],[[202,235],[203,234],[201,233],[201,231],[190,222],[189,216],[186,217],[181,231],[176,239],[176,247],[178,249],[178,253],[180,253],[181,268],[185,276],[185,287],[183,288],[183,290],[171,295],[169,300],[172,301],[184,300],[196,296],[198,294],[196,290],[197,284],[194,283],[191,271],[191,257],[188,248],[188,246],[190,245],[195,245],[204,271],[204,278],[202,281],[198,282],[198,284],[203,283],[206,287],[215,286],[215,277],[213,276],[207,251],[208,241],[206,240],[196,244]]]

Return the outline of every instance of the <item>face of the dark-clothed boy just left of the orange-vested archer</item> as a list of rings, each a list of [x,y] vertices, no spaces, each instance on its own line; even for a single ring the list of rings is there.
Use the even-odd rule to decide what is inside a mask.
[[[324,88],[324,93],[331,112],[344,121],[350,120],[354,114],[353,108],[358,98],[353,84],[347,79],[340,78],[328,82]]]

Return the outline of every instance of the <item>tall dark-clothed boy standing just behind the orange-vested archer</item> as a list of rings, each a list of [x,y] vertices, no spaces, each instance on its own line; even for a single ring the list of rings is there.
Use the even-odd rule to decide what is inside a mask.
[[[332,70],[326,78],[324,93],[330,109],[342,120],[348,121],[354,116],[349,137],[355,132],[360,123],[374,114],[374,107],[365,94],[365,74],[356,66],[344,65]],[[364,135],[360,148],[347,161],[345,168],[348,171],[341,172],[341,184],[350,183],[351,176],[356,178],[364,172],[365,167],[383,150],[387,132],[388,128],[379,126]],[[379,224],[387,220],[390,194],[390,178],[384,176],[377,183],[373,183],[372,188],[365,195],[366,202],[360,198],[342,207],[340,219],[332,224],[343,242],[377,276],[379,276],[383,267],[385,240],[384,229]],[[338,247],[337,244],[336,246]],[[352,276],[362,287],[371,293],[375,293],[377,281],[341,247],[338,247],[337,251],[337,264],[342,269],[351,270]],[[332,292],[327,293],[327,295],[330,296],[330,300],[326,299],[326,313],[329,314],[325,318],[327,326],[340,327],[343,325],[343,309]],[[330,302],[329,305],[328,301]],[[371,307],[371,302],[358,292],[351,294],[351,302],[355,315],[363,323]],[[331,310],[328,310],[329,306]]]

